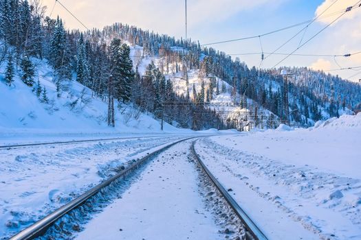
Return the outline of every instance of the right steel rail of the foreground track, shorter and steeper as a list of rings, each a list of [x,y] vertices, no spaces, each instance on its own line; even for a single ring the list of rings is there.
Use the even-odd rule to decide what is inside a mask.
[[[193,155],[195,155],[195,158],[197,159],[197,162],[199,165],[201,165],[201,168],[206,172],[208,178],[212,181],[212,183],[215,185],[215,187],[219,190],[221,195],[224,197],[224,199],[228,202],[230,207],[233,209],[234,213],[241,219],[242,223],[245,226],[245,238],[246,239],[256,239],[256,240],[267,240],[267,237],[263,234],[263,232],[259,229],[256,224],[254,224],[254,221],[243,211],[241,206],[233,199],[233,197],[224,189],[222,184],[215,178],[215,176],[209,171],[209,169],[204,165],[203,161],[195,152],[195,142],[193,141],[191,151]]]

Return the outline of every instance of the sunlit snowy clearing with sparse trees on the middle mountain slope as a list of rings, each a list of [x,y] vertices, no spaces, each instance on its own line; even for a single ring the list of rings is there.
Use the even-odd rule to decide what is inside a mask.
[[[202,84],[204,84],[206,106],[215,110],[223,121],[228,122],[230,128],[237,128],[237,130],[250,130],[254,127],[274,128],[280,123],[278,117],[272,112],[252,99],[240,95],[233,86],[217,76],[205,76],[201,73],[201,69],[190,69],[187,70],[187,82],[184,65],[172,63],[168,64],[168,67],[164,67],[166,62],[164,58],[157,56],[142,57],[142,50],[140,50],[142,47],[140,46],[134,46],[131,49],[135,53],[138,52],[134,62],[141,74],[144,74],[146,66],[153,61],[166,79],[172,81],[173,91],[179,96],[187,97],[189,95],[193,102],[197,102],[196,98],[201,93]],[[138,56],[141,57],[138,58]],[[271,115],[272,117],[270,117]]]

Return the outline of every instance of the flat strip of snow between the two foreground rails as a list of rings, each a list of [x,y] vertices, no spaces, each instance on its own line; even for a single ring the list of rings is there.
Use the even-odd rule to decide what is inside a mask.
[[[223,239],[199,195],[189,146],[180,143],[157,156],[76,239]]]

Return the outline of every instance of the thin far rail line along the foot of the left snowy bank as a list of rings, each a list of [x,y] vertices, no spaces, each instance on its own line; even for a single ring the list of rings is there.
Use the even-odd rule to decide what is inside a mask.
[[[1,145],[0,149],[10,149],[17,147],[32,147],[39,145],[53,145],[53,144],[68,144],[68,143],[87,143],[87,142],[96,142],[96,141],[111,141],[111,140],[122,140],[122,139],[142,139],[142,138],[156,138],[167,135],[159,135],[159,136],[130,136],[130,137],[119,137],[119,138],[111,138],[111,139],[85,139],[85,140],[72,140],[72,141],[55,141],[55,142],[45,142],[45,143],[24,143],[24,144],[14,144],[14,145]]]

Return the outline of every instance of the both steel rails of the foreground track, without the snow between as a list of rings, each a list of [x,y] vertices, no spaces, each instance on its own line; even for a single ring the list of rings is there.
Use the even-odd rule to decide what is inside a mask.
[[[50,215],[47,215],[43,219],[40,219],[39,221],[36,221],[36,223],[32,224],[28,228],[25,228],[21,232],[17,233],[16,235],[12,236],[10,240],[25,240],[25,239],[35,239],[36,237],[41,237],[45,235],[47,230],[52,227],[59,219],[62,219],[66,215],[71,215],[72,211],[74,211],[77,208],[81,208],[83,205],[87,203],[87,201],[91,200],[92,198],[96,197],[97,194],[101,194],[102,192],[109,187],[109,185],[117,182],[117,180],[120,180],[124,178],[124,176],[128,176],[130,173],[134,172],[135,169],[138,169],[139,167],[145,165],[149,160],[153,159],[153,157],[157,156],[158,154],[164,152],[166,149],[177,145],[178,143],[182,143],[184,141],[188,141],[190,139],[199,138],[199,136],[193,136],[188,137],[186,139],[182,139],[179,141],[175,141],[174,143],[170,143],[161,149],[156,150],[155,152],[152,152],[151,154],[146,155],[144,158],[141,158],[140,160],[136,161],[135,163],[128,165],[125,169],[122,169],[116,175],[112,176],[108,180],[105,180],[104,182],[98,184],[96,187],[93,187],[92,189],[89,189],[89,191],[83,193],[82,195],[76,197],[76,199],[72,200],[71,202],[65,204],[61,208],[58,208],[56,211],[50,213]],[[206,173],[209,180],[214,184],[215,188],[219,193],[221,194],[221,197],[226,200],[229,207],[234,211],[234,214],[239,217],[241,222],[244,225],[245,228],[245,239],[260,239],[265,240],[267,237],[263,235],[261,230],[254,224],[254,221],[248,217],[248,215],[245,213],[245,211],[242,210],[242,208],[233,200],[233,198],[230,196],[228,191],[222,187],[222,185],[217,181],[215,176],[210,173],[206,165],[202,162],[202,160],[199,158],[199,155],[197,152],[195,152],[195,141],[193,141],[191,145],[191,153],[195,156],[197,159],[197,163],[201,166],[202,171]]]

